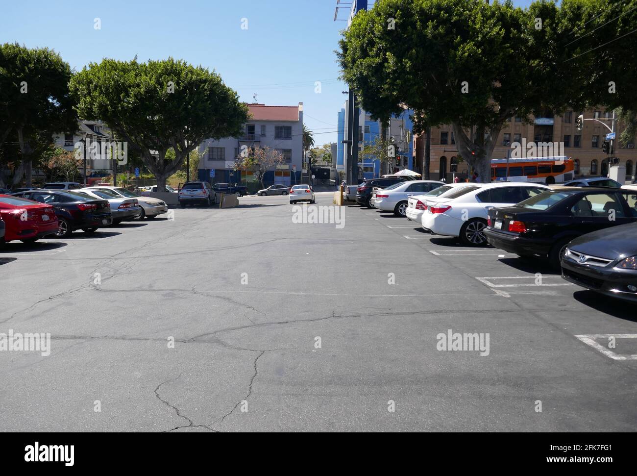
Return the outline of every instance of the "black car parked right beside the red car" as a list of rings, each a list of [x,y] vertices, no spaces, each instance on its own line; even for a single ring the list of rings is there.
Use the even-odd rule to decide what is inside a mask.
[[[108,200],[92,198],[82,192],[35,190],[16,196],[51,205],[60,224],[59,231],[55,233],[58,238],[71,236],[78,229],[85,233],[95,233],[97,228],[113,223]]]

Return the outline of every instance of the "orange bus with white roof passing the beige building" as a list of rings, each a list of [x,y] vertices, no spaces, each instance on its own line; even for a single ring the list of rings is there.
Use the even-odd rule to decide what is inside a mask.
[[[525,157],[523,159],[492,159],[491,181],[539,182],[560,184],[575,178],[575,164],[566,155],[555,157]]]

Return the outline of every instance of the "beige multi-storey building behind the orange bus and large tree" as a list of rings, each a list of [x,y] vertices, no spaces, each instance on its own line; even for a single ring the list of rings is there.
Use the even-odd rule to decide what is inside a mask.
[[[563,116],[531,118],[531,124],[522,122],[519,117],[509,119],[503,127],[493,158],[505,158],[513,143],[531,142],[557,142],[563,143],[564,155],[571,157],[575,162],[576,177],[605,177],[608,174],[608,154],[602,151],[602,144],[606,140],[608,129],[599,122],[584,120],[582,131],[575,128],[575,121],[582,112],[567,111]],[[584,119],[599,119],[604,124],[612,127],[613,113],[602,108],[583,112]],[[617,137],[624,131],[624,125],[616,126]],[[421,140],[422,139],[422,140]],[[422,173],[424,157],[425,136],[415,136],[415,162],[414,169]],[[555,153],[557,155],[557,152]],[[619,159],[619,164],[626,166],[626,180],[635,175],[637,163],[637,150],[634,141],[621,147],[615,140],[613,157]],[[434,180],[447,177],[448,173],[458,172],[468,174],[468,164],[459,162],[458,151],[455,145],[454,134],[451,126],[431,128],[431,162],[429,171]],[[448,178],[448,177],[447,177]]]

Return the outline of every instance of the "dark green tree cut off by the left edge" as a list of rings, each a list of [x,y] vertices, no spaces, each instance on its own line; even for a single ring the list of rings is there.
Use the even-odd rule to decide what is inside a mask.
[[[0,146],[13,138],[20,147],[13,185],[25,177],[31,186],[34,160],[52,145],[54,134],[76,131],[71,75],[68,63],[53,50],[0,45]]]

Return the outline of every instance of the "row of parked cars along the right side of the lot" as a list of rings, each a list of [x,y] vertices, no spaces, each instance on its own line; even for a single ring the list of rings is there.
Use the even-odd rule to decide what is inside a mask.
[[[573,284],[637,302],[635,185],[621,187],[610,179],[603,179],[605,186],[585,179],[550,187],[388,180],[360,184],[357,203],[394,212],[423,231],[457,237],[467,246],[545,259]]]

